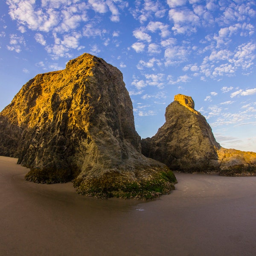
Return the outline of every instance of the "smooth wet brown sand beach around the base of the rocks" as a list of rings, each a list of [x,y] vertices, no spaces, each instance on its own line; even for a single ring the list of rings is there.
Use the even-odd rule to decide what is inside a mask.
[[[256,177],[175,173],[171,195],[99,200],[0,157],[0,256],[253,256]]]

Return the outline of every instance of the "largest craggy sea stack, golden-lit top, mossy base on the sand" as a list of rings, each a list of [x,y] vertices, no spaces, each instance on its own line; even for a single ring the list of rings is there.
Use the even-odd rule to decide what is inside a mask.
[[[152,198],[174,189],[164,164],[141,154],[122,73],[83,54],[28,81],[0,113],[0,154],[30,168],[26,180],[74,179],[95,197]]]

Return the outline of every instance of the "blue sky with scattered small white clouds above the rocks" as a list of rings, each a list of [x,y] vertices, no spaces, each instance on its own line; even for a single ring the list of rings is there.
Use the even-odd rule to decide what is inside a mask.
[[[0,110],[88,52],[122,71],[141,137],[181,93],[223,147],[256,152],[255,30],[255,0],[2,0]]]

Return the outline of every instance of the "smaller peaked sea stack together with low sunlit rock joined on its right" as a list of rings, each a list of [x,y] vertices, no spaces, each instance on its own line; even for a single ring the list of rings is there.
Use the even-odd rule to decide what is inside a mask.
[[[166,108],[166,122],[152,138],[142,140],[142,153],[172,170],[254,175],[256,153],[222,148],[189,96],[178,94]]]

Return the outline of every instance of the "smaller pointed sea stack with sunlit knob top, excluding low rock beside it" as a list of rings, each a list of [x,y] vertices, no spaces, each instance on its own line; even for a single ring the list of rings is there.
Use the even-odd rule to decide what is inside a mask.
[[[166,108],[166,122],[152,138],[142,140],[145,156],[165,163],[172,170],[212,171],[218,167],[216,142],[204,116],[194,109],[189,96],[178,94]]]

